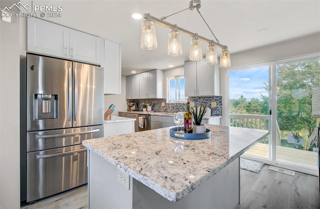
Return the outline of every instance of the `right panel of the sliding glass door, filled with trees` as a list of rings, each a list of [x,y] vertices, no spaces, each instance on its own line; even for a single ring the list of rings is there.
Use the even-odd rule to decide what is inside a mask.
[[[320,86],[320,58],[276,62],[275,74],[275,162],[317,174],[318,119],[311,115],[311,87]]]

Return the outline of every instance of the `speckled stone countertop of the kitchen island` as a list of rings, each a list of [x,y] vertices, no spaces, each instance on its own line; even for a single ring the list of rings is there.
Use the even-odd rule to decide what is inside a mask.
[[[266,130],[206,125],[211,137],[181,140],[169,128],[82,141],[90,151],[171,202],[182,199],[264,138]],[[236,189],[236,188],[235,188]]]

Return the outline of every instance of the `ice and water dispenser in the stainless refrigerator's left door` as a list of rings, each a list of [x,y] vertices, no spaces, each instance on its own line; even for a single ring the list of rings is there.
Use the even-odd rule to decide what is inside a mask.
[[[57,94],[34,94],[34,120],[58,117]]]

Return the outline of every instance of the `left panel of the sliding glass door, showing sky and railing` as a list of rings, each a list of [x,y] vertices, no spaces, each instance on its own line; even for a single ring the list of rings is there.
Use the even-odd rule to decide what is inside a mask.
[[[229,124],[230,126],[271,130],[270,65],[230,69]],[[270,160],[271,135],[246,152],[247,157]]]

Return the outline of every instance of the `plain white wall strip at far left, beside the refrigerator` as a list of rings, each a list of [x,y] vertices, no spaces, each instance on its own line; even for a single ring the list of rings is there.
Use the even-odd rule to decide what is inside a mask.
[[[0,20],[0,209],[20,208],[19,50],[19,19]]]

